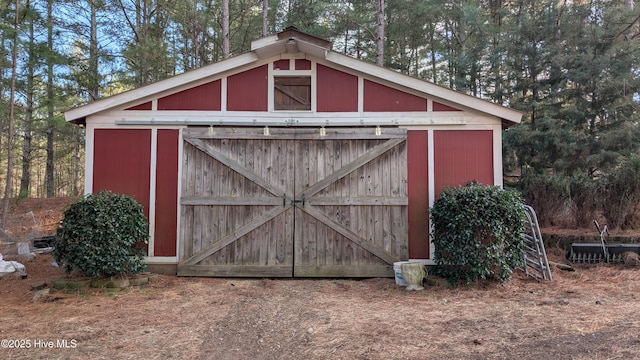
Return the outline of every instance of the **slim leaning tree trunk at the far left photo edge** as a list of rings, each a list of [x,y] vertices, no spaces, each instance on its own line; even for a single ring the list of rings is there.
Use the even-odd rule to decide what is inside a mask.
[[[18,77],[18,20],[20,14],[20,0],[16,0],[15,23],[13,26],[13,45],[11,54],[11,89],[9,92],[9,129],[7,135],[7,178],[5,179],[4,200],[2,201],[2,228],[7,226],[9,216],[9,198],[11,197],[11,173],[13,172],[13,121],[15,114],[16,78]]]

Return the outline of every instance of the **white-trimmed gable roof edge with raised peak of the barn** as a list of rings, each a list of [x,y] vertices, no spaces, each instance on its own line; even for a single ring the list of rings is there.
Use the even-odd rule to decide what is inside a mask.
[[[343,68],[363,74],[369,74],[374,77],[384,79],[385,82],[394,83],[424,93],[427,96],[432,95],[438,98],[444,98],[453,104],[459,104],[461,106],[498,117],[503,121],[505,126],[520,123],[522,119],[522,113],[520,111],[459,93],[428,81],[416,79],[375,64],[334,52],[331,50],[331,45],[331,42],[327,40],[305,34],[298,31],[296,28],[290,27],[276,35],[263,37],[253,41],[251,43],[251,51],[247,53],[225,59],[214,64],[206,65],[150,85],[79,106],[65,112],[65,119],[72,123],[83,123],[86,117],[92,114],[121,107],[142,98],[148,98],[179,86],[197,82],[203,78],[215,76],[235,68],[250,65],[262,59],[271,58],[282,53],[296,52],[305,53],[312,57],[339,65]]]

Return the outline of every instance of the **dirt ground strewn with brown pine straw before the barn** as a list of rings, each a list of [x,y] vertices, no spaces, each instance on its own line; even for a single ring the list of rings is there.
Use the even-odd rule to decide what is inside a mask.
[[[13,217],[33,211],[53,234],[68,201],[17,204]],[[563,261],[560,249],[548,252]],[[32,284],[63,276],[52,261],[38,255],[24,262],[26,279],[0,279],[1,359],[640,358],[640,268],[622,265],[423,291],[394,279],[161,275],[117,294],[84,288],[33,301]]]

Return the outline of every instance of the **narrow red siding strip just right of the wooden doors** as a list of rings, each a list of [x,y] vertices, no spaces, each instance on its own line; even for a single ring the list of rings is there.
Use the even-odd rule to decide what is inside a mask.
[[[429,258],[428,133],[407,131],[409,258]]]

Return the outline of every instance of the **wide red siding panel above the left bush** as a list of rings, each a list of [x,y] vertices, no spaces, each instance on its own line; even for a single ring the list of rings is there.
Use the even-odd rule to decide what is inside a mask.
[[[93,192],[132,196],[149,218],[151,130],[97,129],[94,132]]]

